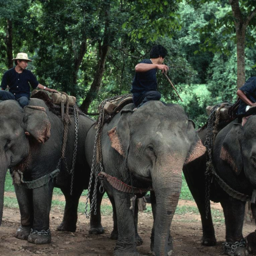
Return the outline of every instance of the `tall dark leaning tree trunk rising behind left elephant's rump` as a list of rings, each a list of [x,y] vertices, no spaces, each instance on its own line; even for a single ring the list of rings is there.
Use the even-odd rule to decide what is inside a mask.
[[[105,71],[105,62],[107,59],[107,54],[110,49],[109,41],[110,41],[110,20],[109,20],[109,12],[110,12],[110,1],[102,7],[103,15],[105,20],[105,27],[104,27],[104,35],[103,41],[98,40],[98,47],[99,47],[99,55],[98,55],[98,65],[96,68],[96,73],[94,74],[93,83],[91,84],[90,90],[87,93],[87,96],[80,105],[80,108],[85,113],[88,113],[88,108],[90,107],[91,102],[96,98],[98,95],[99,88],[101,87],[102,77]],[[103,20],[103,19],[102,19]]]

